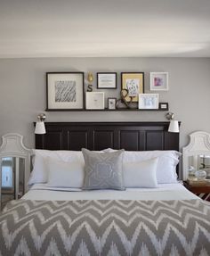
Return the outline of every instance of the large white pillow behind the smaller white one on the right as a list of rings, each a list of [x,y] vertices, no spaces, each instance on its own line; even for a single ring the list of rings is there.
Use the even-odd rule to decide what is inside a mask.
[[[109,148],[106,152],[114,152]],[[154,151],[125,151],[124,163],[134,161],[145,161],[158,157],[157,180],[162,183],[178,183],[176,166],[182,153],[173,150],[154,150]]]

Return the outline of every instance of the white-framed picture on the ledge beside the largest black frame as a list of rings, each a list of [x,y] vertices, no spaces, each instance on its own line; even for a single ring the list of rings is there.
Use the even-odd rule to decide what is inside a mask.
[[[103,110],[104,109],[104,93],[86,92],[86,109],[87,110]]]

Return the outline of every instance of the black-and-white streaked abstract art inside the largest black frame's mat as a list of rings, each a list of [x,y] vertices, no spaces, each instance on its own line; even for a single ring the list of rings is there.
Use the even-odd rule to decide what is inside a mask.
[[[76,102],[76,81],[55,81],[54,87],[56,103]]]

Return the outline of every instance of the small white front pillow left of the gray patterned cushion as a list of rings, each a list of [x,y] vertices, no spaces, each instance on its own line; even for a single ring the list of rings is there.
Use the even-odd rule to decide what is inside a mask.
[[[85,163],[82,161],[57,161],[46,158],[47,186],[81,188],[84,182]]]

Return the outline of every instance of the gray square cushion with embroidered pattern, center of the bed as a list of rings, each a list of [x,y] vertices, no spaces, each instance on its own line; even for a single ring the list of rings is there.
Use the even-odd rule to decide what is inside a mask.
[[[82,149],[85,159],[85,182],[83,189],[125,190],[123,180],[123,153],[95,153]]]

